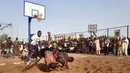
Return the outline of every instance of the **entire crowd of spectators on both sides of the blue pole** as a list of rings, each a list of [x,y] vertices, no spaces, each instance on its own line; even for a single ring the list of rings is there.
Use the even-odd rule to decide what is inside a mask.
[[[57,48],[61,52],[66,53],[78,53],[78,54],[104,54],[115,56],[128,56],[130,50],[130,43],[127,37],[88,37],[79,39],[62,39],[58,41],[46,41],[50,49]],[[44,47],[44,42],[42,48]],[[5,52],[14,56],[20,56],[21,54],[27,55],[29,47],[27,43],[11,40],[9,37],[5,42],[0,45],[0,54]],[[25,52],[23,52],[25,51]]]

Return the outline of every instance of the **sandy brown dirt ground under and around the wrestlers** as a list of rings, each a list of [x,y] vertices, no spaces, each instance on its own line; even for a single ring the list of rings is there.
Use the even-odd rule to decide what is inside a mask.
[[[70,69],[44,72],[42,61],[24,73],[130,73],[130,57],[69,54],[75,58]],[[16,62],[17,64],[14,64]],[[5,64],[5,65],[4,65]],[[20,59],[0,59],[0,73],[21,73],[26,66]]]

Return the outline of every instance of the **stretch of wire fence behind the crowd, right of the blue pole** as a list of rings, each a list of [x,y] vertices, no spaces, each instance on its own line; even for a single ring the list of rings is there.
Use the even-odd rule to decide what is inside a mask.
[[[96,32],[96,36],[107,36],[107,37],[115,37],[115,31],[119,30],[119,35],[118,37],[129,37],[130,35],[130,29],[129,29],[130,25],[125,25],[125,26],[118,26],[118,27],[112,27],[112,28],[106,28],[106,29],[97,29]],[[54,36],[59,36],[60,39],[64,39],[66,36],[73,36],[75,38],[78,38],[79,35],[83,35],[85,38],[86,37],[90,37],[91,33],[89,33],[88,31],[84,31],[84,32],[71,32],[71,33],[61,33],[61,34],[55,34],[55,35],[51,35],[51,38],[54,40],[55,37]],[[48,36],[43,36],[45,39],[44,40],[48,40]]]

